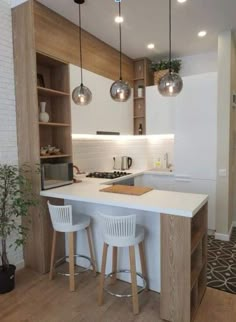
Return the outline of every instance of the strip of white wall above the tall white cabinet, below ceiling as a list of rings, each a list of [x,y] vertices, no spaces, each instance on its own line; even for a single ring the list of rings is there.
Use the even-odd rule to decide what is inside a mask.
[[[181,76],[191,76],[196,74],[217,72],[217,52],[184,56],[182,60]]]

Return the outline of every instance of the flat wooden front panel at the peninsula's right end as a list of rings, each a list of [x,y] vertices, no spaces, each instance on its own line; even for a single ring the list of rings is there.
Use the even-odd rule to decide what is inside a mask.
[[[161,215],[161,318],[190,322],[191,219]]]

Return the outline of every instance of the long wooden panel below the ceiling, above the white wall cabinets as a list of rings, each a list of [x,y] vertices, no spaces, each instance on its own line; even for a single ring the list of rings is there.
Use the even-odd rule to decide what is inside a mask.
[[[36,50],[79,66],[79,27],[34,2]],[[84,68],[110,79],[119,77],[119,52],[83,30]],[[123,77],[133,82],[133,60],[123,56]]]

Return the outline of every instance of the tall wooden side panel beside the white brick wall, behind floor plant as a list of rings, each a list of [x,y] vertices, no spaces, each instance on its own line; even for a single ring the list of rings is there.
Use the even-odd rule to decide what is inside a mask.
[[[32,2],[15,7],[12,19],[18,158],[19,164],[28,163],[36,168],[40,159]],[[33,173],[32,180],[34,192],[39,196],[40,175]],[[30,217],[29,236],[24,247],[25,264],[40,273],[46,273],[49,269],[52,228],[45,200],[41,198],[40,206],[31,211]],[[58,250],[64,254],[64,247],[58,247]]]

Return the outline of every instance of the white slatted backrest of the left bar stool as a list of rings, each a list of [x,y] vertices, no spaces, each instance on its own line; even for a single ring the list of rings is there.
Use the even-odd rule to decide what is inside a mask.
[[[72,226],[72,206],[54,206],[48,201],[48,208],[54,230],[67,231]]]

